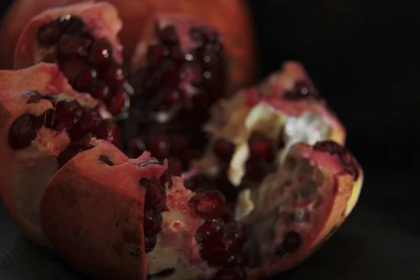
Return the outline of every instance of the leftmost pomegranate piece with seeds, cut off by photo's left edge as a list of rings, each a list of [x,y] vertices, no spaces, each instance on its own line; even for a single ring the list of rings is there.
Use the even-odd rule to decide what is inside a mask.
[[[29,237],[48,244],[38,204],[59,166],[96,137],[118,144],[116,125],[89,94],[73,90],[55,64],[0,71],[0,195]]]

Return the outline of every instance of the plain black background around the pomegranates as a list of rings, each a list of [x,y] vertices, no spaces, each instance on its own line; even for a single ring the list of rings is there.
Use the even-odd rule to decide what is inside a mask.
[[[302,62],[344,123],[347,146],[365,170],[358,207],[346,223],[313,258],[279,279],[420,279],[420,6],[378,0],[248,2],[260,78],[286,59]],[[0,215],[0,279],[80,276]]]

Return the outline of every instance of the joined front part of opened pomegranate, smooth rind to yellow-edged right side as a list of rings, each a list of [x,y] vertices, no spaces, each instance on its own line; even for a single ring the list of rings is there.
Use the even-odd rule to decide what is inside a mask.
[[[232,221],[218,190],[194,192],[146,152],[106,141],[76,155],[41,200],[45,235],[100,279],[262,279],[328,239],[353,209],[363,172],[333,141],[294,144],[276,172],[241,191]]]

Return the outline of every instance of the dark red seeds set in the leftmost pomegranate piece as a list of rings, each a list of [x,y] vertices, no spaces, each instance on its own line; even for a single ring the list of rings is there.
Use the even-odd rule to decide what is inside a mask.
[[[58,162],[61,167],[78,153],[92,148],[90,139],[104,139],[116,146],[120,144],[120,132],[111,120],[104,120],[97,109],[81,106],[76,100],[57,99],[42,96],[37,92],[27,92],[27,104],[41,102],[48,99],[54,109],[49,109],[41,116],[22,115],[10,127],[8,142],[14,150],[26,148],[36,138],[38,130],[45,127],[65,131],[69,134],[71,144],[59,154]]]

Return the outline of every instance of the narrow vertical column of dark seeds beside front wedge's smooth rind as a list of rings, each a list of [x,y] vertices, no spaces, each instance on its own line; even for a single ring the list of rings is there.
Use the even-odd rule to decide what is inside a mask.
[[[170,180],[169,174],[164,173],[160,179],[140,179],[140,185],[146,188],[144,197],[144,246],[146,253],[153,251],[156,246],[158,233],[162,230],[162,215],[169,211],[166,202],[165,183]],[[170,183],[169,183],[170,186]]]

